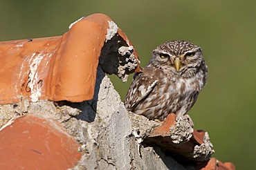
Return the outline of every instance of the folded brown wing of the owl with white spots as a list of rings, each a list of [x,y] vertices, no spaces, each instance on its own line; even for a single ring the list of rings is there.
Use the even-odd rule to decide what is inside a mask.
[[[131,108],[131,110],[132,108],[136,108],[153,91],[156,84],[158,84],[158,80],[153,79],[152,76],[144,73],[136,73],[125,98],[125,106]]]

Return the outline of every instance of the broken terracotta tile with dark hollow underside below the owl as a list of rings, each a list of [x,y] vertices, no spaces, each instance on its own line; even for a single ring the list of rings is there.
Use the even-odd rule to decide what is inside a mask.
[[[216,158],[211,158],[210,156],[214,151],[211,151],[212,146],[203,150],[203,153],[195,153],[195,147],[201,146],[202,144],[208,143],[211,145],[210,141],[205,140],[205,131],[196,131],[193,129],[192,136],[188,137],[188,140],[183,140],[181,142],[174,141],[174,134],[172,134],[173,129],[177,127],[176,125],[176,115],[171,113],[167,116],[161,126],[155,127],[150,133],[149,137],[144,139],[147,144],[157,144],[164,151],[170,151],[171,153],[176,153],[178,157],[188,162],[194,162],[196,169],[205,170],[235,170],[235,165],[231,162],[222,163]],[[179,127],[177,127],[179,128]],[[180,129],[179,135],[181,135],[183,129]],[[188,129],[184,129],[188,131]],[[197,147],[198,148],[198,147]],[[197,154],[197,155],[196,155]],[[199,156],[198,156],[199,155]]]

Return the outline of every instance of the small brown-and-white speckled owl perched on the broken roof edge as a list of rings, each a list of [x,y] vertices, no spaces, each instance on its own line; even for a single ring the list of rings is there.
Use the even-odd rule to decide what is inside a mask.
[[[208,77],[199,46],[189,41],[167,41],[153,50],[152,58],[134,80],[125,107],[149,120],[163,121],[170,113],[185,115],[196,102]]]

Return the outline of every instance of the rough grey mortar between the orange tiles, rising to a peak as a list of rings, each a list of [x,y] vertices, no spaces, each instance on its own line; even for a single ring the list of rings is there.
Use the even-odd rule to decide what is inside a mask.
[[[28,102],[21,97],[17,104],[1,105],[0,111],[4,117],[1,126],[12,117],[27,113],[42,114],[60,122],[82,144],[78,149],[82,158],[72,169],[188,169],[158,147],[141,143],[158,123],[128,114],[100,66],[93,100]]]

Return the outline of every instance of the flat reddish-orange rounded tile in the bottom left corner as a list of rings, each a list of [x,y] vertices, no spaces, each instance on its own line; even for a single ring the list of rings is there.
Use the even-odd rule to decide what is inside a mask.
[[[35,114],[2,129],[0,146],[0,169],[68,169],[82,156],[80,144],[60,124]]]

